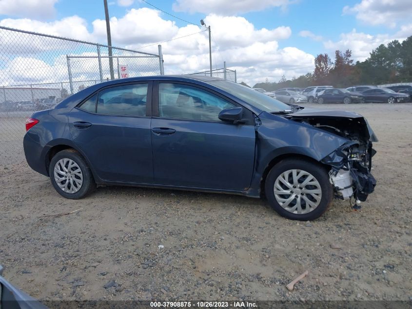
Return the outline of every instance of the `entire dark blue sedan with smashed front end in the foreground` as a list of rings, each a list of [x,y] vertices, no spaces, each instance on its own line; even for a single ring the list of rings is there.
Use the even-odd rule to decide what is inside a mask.
[[[212,77],[98,83],[34,113],[26,131],[28,165],[68,199],[97,185],[264,193],[306,221],[334,197],[365,201],[376,184],[377,139],[361,115],[305,111]]]

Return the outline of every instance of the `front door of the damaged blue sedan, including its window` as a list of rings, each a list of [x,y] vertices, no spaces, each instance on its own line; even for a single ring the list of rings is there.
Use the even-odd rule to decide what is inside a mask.
[[[184,82],[154,84],[151,137],[155,182],[225,190],[250,186],[255,161],[255,126],[218,119],[239,106],[212,90]]]

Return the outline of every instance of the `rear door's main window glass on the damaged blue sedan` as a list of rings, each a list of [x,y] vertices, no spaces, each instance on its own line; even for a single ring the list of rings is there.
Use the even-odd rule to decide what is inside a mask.
[[[147,83],[121,85],[98,93],[97,113],[146,116]]]

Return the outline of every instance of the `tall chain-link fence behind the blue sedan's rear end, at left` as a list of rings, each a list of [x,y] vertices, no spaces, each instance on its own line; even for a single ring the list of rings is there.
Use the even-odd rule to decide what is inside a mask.
[[[25,119],[34,111],[126,77],[119,66],[128,77],[163,74],[161,47],[156,55],[0,26],[0,143],[21,143]]]

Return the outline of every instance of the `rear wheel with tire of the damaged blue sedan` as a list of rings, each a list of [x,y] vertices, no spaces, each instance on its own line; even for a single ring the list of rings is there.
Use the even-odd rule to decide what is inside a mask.
[[[96,188],[92,171],[74,149],[62,150],[52,158],[49,175],[56,191],[66,199],[81,199]]]

